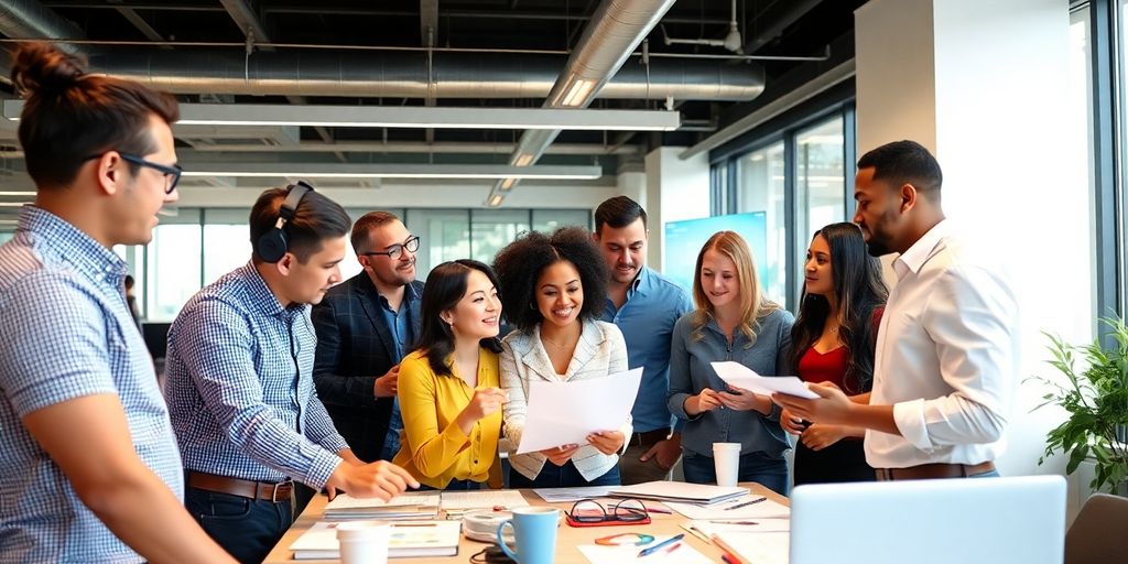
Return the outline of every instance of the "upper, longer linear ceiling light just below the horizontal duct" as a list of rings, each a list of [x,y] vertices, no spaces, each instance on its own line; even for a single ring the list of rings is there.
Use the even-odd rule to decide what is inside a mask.
[[[3,116],[11,121],[19,121],[23,108],[24,100],[5,100]],[[180,121],[177,123],[183,125],[672,131],[681,124],[681,116],[677,112],[662,109],[180,104]]]

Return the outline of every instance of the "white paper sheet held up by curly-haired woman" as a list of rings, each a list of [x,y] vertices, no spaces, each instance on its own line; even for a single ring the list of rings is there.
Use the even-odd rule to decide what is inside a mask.
[[[518,455],[587,444],[597,431],[623,426],[638,395],[642,368],[574,382],[529,382],[529,408]]]

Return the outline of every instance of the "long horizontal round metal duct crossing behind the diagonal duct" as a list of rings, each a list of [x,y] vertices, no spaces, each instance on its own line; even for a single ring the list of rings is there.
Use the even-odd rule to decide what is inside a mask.
[[[629,51],[627,52],[629,53]],[[625,58],[624,58],[625,59]],[[603,98],[749,100],[764,90],[757,64],[663,59],[628,65]],[[501,53],[103,51],[91,70],[174,94],[387,98],[546,98],[564,59]],[[429,86],[430,85],[430,86]],[[563,107],[563,106],[561,106]]]

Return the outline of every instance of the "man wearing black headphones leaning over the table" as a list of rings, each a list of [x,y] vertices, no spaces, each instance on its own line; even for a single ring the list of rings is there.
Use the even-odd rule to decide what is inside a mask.
[[[262,562],[293,523],[294,481],[384,500],[418,487],[358,459],[314,388],[309,306],[341,281],[350,223],[305,183],[267,190],[250,210],[250,262],[188,300],[168,332],[186,505],[241,562]]]

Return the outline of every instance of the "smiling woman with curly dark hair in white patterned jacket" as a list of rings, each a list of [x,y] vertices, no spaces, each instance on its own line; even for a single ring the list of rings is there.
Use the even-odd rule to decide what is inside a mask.
[[[505,318],[514,328],[502,341],[501,381],[509,393],[505,434],[521,442],[530,381],[603,378],[627,369],[618,327],[597,320],[607,303],[607,265],[587,229],[526,233],[497,253]],[[587,437],[588,444],[561,444],[511,455],[510,487],[618,485],[618,453],[631,437],[631,416],[619,429]]]

